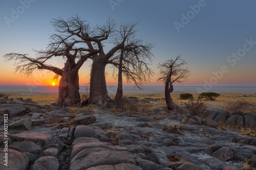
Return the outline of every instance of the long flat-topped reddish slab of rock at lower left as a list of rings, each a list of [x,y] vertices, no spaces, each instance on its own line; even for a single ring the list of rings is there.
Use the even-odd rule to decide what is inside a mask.
[[[14,135],[13,141],[31,141],[34,143],[40,143],[41,145],[45,145],[49,143],[51,135],[44,134],[44,133],[36,133],[36,132],[23,132]]]

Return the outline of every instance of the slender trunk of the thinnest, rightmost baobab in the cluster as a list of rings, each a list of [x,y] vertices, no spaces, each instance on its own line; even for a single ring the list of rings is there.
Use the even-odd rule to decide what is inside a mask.
[[[122,61],[123,61],[123,50],[121,51],[121,55],[119,59],[118,85],[117,85],[116,96],[114,99],[114,106],[117,108],[121,108],[123,103]]]

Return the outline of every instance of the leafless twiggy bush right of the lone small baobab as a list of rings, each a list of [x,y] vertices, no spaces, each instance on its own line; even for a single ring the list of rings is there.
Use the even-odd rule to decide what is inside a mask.
[[[197,101],[191,99],[188,103],[185,103],[185,109],[187,109],[191,115],[197,116],[206,110],[206,106],[200,99]]]

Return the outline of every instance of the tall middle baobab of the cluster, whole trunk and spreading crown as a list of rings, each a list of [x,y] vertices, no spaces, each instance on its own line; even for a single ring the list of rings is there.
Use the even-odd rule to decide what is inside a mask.
[[[63,34],[62,38],[74,36],[75,39],[86,42],[84,45],[87,45],[90,53],[99,51],[99,53],[90,57],[93,63],[91,67],[88,103],[106,106],[111,102],[111,99],[106,89],[105,67],[107,64],[112,64],[111,58],[124,47],[125,42],[130,42],[126,40],[129,40],[135,34],[136,23],[126,22],[117,26],[115,21],[109,18],[104,25],[97,25],[91,28],[89,26],[83,26],[83,23],[77,18],[78,16],[74,16],[68,20],[57,18],[53,20],[53,23],[58,27],[58,31]],[[129,30],[124,30],[124,28],[129,28]],[[112,46],[109,47],[110,50],[105,50],[103,43],[108,44],[108,47]],[[126,45],[129,46],[130,44]]]

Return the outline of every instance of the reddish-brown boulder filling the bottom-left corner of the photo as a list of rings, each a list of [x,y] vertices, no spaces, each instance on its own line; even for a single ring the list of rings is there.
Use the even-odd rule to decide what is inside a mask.
[[[4,165],[6,162],[4,149],[0,150],[0,169],[11,169],[11,170],[26,170],[29,167],[29,158],[25,153],[18,152],[16,150],[8,148],[8,168]]]

